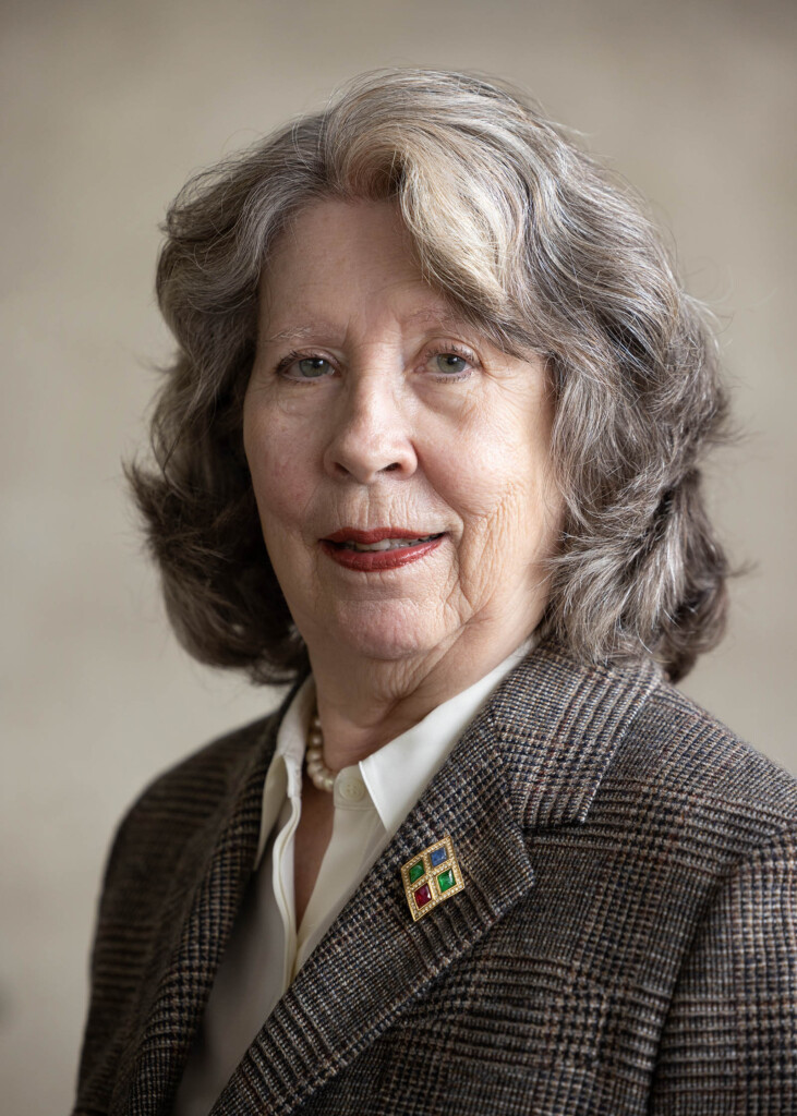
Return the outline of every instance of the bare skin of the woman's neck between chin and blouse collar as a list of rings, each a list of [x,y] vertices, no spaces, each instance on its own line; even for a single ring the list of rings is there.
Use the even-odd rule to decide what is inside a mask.
[[[398,661],[345,655],[327,641],[309,646],[324,762],[333,771],[358,763],[489,674],[527,638],[520,628],[491,639],[461,635]]]

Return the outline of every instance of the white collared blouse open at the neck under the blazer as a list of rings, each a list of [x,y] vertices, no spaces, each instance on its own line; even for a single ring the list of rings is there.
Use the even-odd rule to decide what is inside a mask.
[[[316,691],[297,691],[263,787],[252,877],[177,1090],[174,1116],[207,1116],[252,1039],[421,797],[487,698],[530,651],[527,641],[489,674],[366,759],[338,771],[335,815],[301,924],[294,904],[294,835]]]

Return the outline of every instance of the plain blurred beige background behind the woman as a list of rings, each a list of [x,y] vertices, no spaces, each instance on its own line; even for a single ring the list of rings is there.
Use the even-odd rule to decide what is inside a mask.
[[[352,74],[530,89],[651,196],[711,300],[747,440],[713,469],[739,561],[686,690],[797,771],[793,3],[87,0],[2,8],[3,1112],[65,1112],[112,828],[155,771],[273,698],[166,629],[119,458],[169,352],[152,298],[190,172]]]

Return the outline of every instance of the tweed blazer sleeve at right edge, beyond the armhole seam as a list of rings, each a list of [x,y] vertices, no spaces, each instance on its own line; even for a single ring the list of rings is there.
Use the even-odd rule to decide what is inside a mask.
[[[718,887],[664,1023],[651,1116],[797,1114],[796,836]]]

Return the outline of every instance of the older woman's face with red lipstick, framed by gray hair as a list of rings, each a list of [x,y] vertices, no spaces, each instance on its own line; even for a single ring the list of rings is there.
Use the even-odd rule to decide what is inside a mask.
[[[262,285],[243,437],[310,655],[325,641],[388,660],[463,634],[521,642],[560,528],[551,420],[542,360],[452,314],[391,204],[305,211]]]

